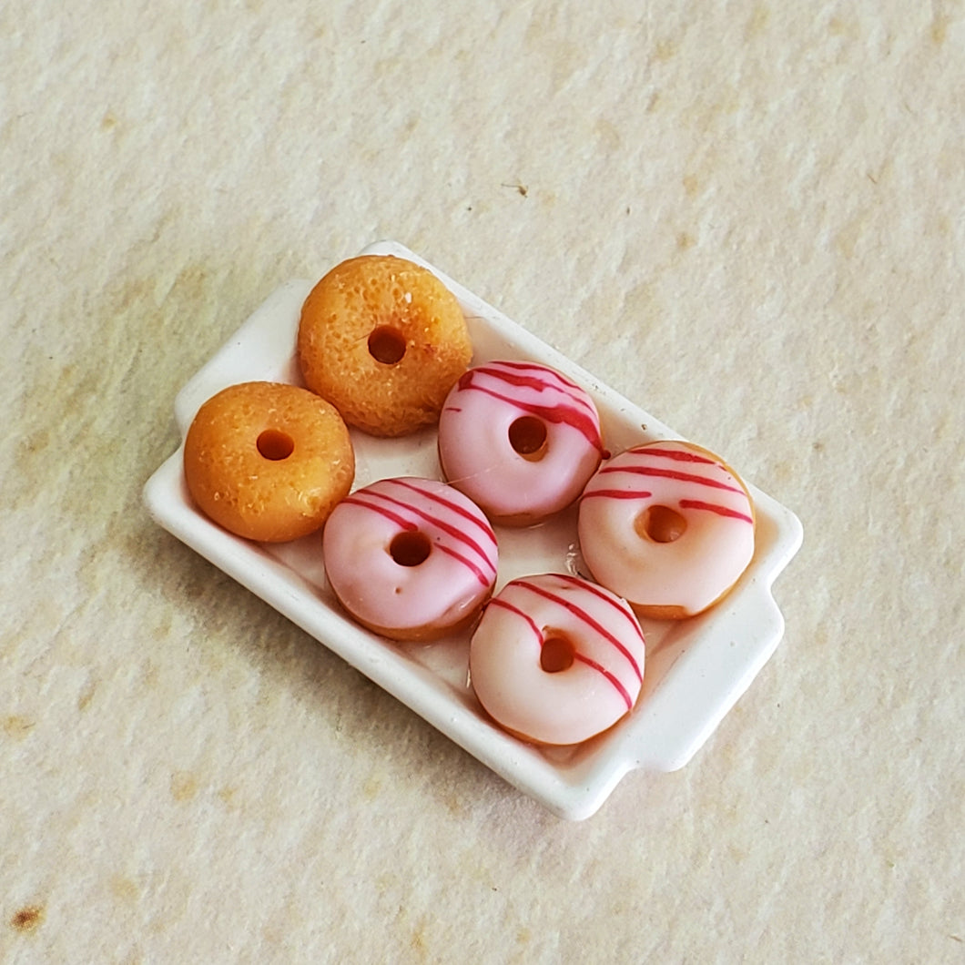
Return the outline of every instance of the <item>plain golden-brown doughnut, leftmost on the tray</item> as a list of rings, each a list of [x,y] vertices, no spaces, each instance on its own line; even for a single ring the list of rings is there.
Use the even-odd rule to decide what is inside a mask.
[[[201,406],[184,439],[184,479],[195,503],[248,539],[314,532],[354,475],[342,417],[294,385],[229,386]]]

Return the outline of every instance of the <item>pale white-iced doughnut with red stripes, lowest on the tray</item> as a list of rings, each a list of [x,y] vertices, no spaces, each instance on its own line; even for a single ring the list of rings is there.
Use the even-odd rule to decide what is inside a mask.
[[[633,709],[644,677],[640,623],[616,593],[564,573],[512,580],[485,606],[469,678],[501,727],[577,744]]]

